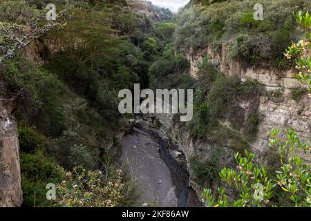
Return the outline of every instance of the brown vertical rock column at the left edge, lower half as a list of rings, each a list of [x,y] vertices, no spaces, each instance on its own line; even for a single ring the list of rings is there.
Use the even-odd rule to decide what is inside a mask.
[[[21,206],[21,169],[17,124],[10,115],[12,101],[1,92],[0,79],[0,207]]]

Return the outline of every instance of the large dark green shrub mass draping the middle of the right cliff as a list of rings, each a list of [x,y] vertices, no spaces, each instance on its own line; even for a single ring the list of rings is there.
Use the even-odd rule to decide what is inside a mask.
[[[230,144],[236,149],[243,148],[245,140],[251,140],[257,133],[259,117],[258,98],[262,94],[258,81],[247,79],[242,82],[236,76],[225,77],[214,66],[203,62],[198,71],[194,99],[194,119],[188,124],[191,134],[211,144]],[[245,120],[245,110],[239,106],[241,101],[250,102],[254,110]],[[220,125],[229,121],[233,128]],[[245,140],[234,130],[245,128]]]

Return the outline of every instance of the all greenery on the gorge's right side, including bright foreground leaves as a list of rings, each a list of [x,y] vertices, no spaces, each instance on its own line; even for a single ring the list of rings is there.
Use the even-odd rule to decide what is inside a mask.
[[[292,16],[292,11],[308,10],[310,1],[264,1],[264,21],[254,20],[253,1],[200,1],[200,6],[191,3],[177,15],[173,41],[151,66],[149,75],[154,88],[194,88],[194,119],[186,125],[191,134],[206,140],[212,148],[229,146],[236,151],[238,169],[219,169],[219,153],[211,153],[207,160],[196,154],[191,157],[191,171],[200,186],[219,184],[217,189],[205,189],[202,198],[207,206],[310,206],[310,167],[297,155],[301,149],[310,154],[310,144],[303,144],[291,129],[285,133],[273,130],[270,155],[279,155],[281,159],[272,163],[273,168],[261,166],[256,155],[247,151],[249,142],[256,139],[261,120],[258,99],[270,93],[258,81],[225,77],[208,56],[198,69],[197,79],[189,79],[187,61],[180,62],[187,53],[196,53],[209,44],[214,50],[226,44],[229,57],[245,66],[292,68],[292,57],[296,57],[296,78],[310,85],[310,62],[304,54],[310,47],[309,41],[293,44],[285,53],[287,58],[283,55],[291,41],[298,41],[304,32],[297,28],[296,21],[305,28],[306,39],[310,39],[309,14],[300,12]],[[296,88],[290,95],[299,102],[305,93],[305,88]],[[241,102],[252,107],[247,110],[246,119],[238,106]],[[287,140],[282,140],[284,136]]]

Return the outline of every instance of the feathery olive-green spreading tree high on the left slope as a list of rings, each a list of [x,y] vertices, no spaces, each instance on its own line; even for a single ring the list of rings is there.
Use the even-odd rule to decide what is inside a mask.
[[[110,28],[109,15],[86,9],[75,9],[72,13],[75,19],[55,34],[62,41],[68,59],[75,65],[89,64],[91,68],[113,59],[121,41]]]

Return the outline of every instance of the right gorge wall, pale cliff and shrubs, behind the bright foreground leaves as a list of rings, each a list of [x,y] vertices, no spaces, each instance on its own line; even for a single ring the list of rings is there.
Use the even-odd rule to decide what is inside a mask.
[[[310,1],[262,1],[263,21],[254,19],[255,3],[191,1],[176,17],[172,43],[150,68],[153,88],[195,90],[191,122],[173,115],[147,119],[185,153],[198,193],[223,188],[229,172],[220,179],[220,169],[234,169],[234,153],[245,149],[273,173],[279,162],[270,144],[272,128],[294,128],[302,142],[310,141],[308,80],[301,84],[294,59],[284,56],[292,41],[305,36],[292,11],[310,10]],[[308,151],[299,156],[311,160]]]

